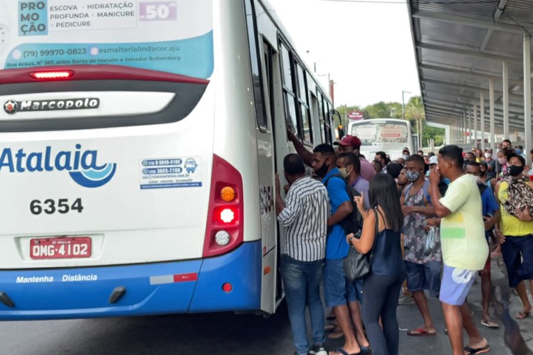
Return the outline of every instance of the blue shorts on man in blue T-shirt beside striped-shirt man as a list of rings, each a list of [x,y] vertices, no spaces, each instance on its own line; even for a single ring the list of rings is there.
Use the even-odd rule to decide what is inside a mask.
[[[357,300],[355,284],[344,275],[344,259],[325,259],[324,298],[326,307],[336,307]]]

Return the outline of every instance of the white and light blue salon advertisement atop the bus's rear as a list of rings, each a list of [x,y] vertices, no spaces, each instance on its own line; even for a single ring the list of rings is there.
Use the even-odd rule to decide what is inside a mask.
[[[0,8],[0,70],[115,64],[195,78],[213,71],[212,0],[0,0]]]

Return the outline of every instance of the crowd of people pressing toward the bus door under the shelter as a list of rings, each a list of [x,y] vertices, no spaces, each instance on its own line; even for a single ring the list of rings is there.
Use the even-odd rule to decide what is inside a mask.
[[[280,272],[295,354],[327,355],[330,331],[329,338],[344,337],[344,345],[330,355],[369,349],[397,355],[398,304],[414,303],[421,314],[423,325],[412,327],[408,336],[437,332],[433,317],[439,315],[430,314],[426,291],[441,302],[453,355],[489,352],[466,297],[479,274],[479,324],[499,327],[489,312],[491,257],[499,254],[509,286],[523,302],[516,318],[530,316],[526,282],[533,290],[533,171],[525,166],[521,147],[512,148],[506,139],[496,155],[491,149],[458,146],[444,146],[438,155],[405,148],[397,159],[378,152],[369,162],[359,152],[357,137],[310,152],[288,134],[297,153],[284,159],[285,186],[276,175],[276,212],[285,227]],[[356,216],[360,228],[347,223]],[[370,257],[369,275],[355,281],[344,268],[350,248]],[[325,306],[332,309],[328,315],[321,284]]]

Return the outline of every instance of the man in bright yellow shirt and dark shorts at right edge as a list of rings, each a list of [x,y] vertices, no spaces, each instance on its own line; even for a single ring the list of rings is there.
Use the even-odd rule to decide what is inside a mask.
[[[516,288],[524,306],[522,311],[516,314],[516,318],[524,319],[532,311],[524,280],[529,280],[533,290],[533,217],[530,213],[532,206],[524,207],[518,202],[525,201],[527,194],[531,198],[533,182],[521,179],[525,166],[525,159],[521,155],[507,155],[507,164],[509,177],[498,182],[495,189],[502,214],[500,230],[496,233],[502,243],[502,257],[507,266],[509,287]],[[513,187],[514,184],[516,187]],[[517,198],[517,193],[515,196],[509,196],[509,187],[513,187],[521,196]],[[523,193],[520,193],[520,188]]]

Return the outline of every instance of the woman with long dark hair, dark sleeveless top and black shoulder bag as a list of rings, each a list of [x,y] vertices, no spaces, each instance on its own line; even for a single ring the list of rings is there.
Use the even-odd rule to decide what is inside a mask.
[[[371,209],[364,211],[363,198],[354,198],[364,216],[363,230],[360,239],[349,234],[346,240],[359,252],[372,251],[371,272],[363,283],[363,322],[372,354],[398,355],[396,307],[405,279],[405,263],[400,249],[403,214],[394,179],[387,174],[375,175],[370,181],[369,199]]]

